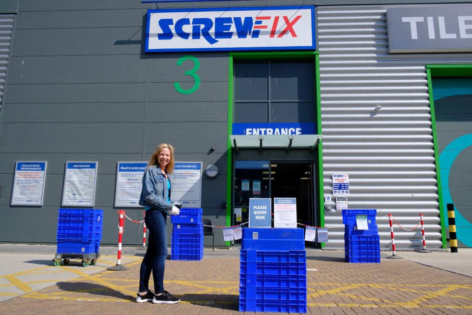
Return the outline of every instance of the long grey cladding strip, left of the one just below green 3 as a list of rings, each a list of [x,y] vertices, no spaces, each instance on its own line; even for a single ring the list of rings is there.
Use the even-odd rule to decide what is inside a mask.
[[[142,123],[145,103],[52,103],[3,106],[8,123]]]

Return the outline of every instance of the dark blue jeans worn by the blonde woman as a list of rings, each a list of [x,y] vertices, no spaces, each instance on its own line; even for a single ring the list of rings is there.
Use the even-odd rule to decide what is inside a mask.
[[[139,271],[139,292],[149,290],[149,277],[152,271],[154,292],[161,293],[164,291],[164,269],[167,258],[167,215],[156,208],[151,208],[146,211],[144,221],[149,231],[149,240],[148,250]]]

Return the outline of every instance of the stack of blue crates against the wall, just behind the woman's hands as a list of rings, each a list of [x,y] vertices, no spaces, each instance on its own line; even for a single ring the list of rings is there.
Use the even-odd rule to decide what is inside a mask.
[[[201,208],[182,208],[178,216],[171,216],[172,260],[202,260],[203,223]]]

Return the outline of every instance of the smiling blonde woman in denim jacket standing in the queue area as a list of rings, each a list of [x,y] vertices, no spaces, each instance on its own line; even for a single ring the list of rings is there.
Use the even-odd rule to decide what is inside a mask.
[[[167,215],[178,215],[181,205],[171,203],[170,175],[174,170],[174,147],[160,144],[149,159],[143,175],[139,204],[146,207],[144,221],[149,231],[148,250],[141,263],[139,292],[136,302],[174,304],[180,299],[164,290],[164,269],[167,258]],[[149,277],[154,279],[155,293],[149,290]]]

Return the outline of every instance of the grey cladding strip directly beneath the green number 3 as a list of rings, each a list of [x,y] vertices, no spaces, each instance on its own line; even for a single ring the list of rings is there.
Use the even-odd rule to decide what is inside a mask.
[[[178,116],[175,114],[178,110]],[[227,122],[228,102],[178,102],[148,104],[148,122],[165,122],[173,117],[180,123],[187,122]]]

